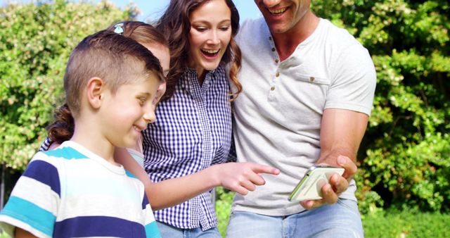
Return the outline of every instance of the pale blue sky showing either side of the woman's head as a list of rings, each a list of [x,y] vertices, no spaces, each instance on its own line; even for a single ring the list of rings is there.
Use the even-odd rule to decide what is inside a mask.
[[[130,2],[134,2],[141,11],[137,20],[141,21],[153,21],[158,19],[160,15],[165,11],[165,8],[169,4],[169,0],[109,0],[120,8],[124,8]],[[240,19],[245,20],[247,18],[258,18],[260,13],[255,5],[255,1],[252,0],[233,0],[238,8]]]

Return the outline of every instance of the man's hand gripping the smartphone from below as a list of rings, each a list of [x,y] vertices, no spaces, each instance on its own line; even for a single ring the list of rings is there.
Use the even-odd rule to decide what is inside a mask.
[[[324,204],[333,204],[338,201],[338,196],[347,190],[349,187],[349,181],[352,180],[353,175],[356,173],[356,164],[347,156],[338,156],[337,159],[338,166],[344,169],[343,174],[333,173],[333,175],[328,175],[328,183],[319,184],[320,197],[317,200],[312,199],[296,199],[300,201],[300,204],[305,209],[317,208],[323,206]],[[341,168],[341,170],[342,170]],[[317,182],[321,181],[320,179]],[[295,192],[295,189],[294,191]],[[291,194],[292,196],[293,194]]]

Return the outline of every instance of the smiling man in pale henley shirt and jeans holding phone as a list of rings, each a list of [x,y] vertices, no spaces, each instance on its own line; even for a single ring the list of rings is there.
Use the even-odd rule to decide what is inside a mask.
[[[352,176],[375,91],[371,57],[314,15],[310,0],[255,3],[264,19],[244,23],[237,37],[244,91],[235,101],[236,153],[281,174],[235,196],[227,237],[363,237]],[[321,200],[288,201],[316,164],[345,173],[321,187]]]

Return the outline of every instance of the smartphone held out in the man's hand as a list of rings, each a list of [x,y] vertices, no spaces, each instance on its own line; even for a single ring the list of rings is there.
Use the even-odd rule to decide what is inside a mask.
[[[328,184],[331,175],[338,173],[342,176],[344,168],[336,168],[325,165],[314,165],[307,170],[302,180],[290,194],[289,201],[318,200],[322,199],[321,188]]]

